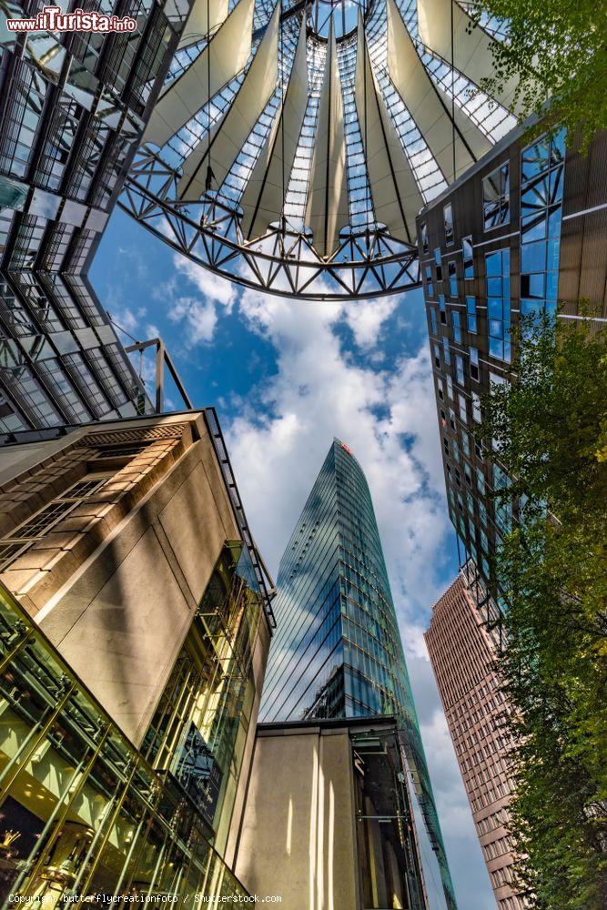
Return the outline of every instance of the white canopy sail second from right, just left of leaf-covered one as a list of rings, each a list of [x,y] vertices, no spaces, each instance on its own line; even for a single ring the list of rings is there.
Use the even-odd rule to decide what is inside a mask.
[[[388,70],[394,87],[448,181],[489,151],[491,142],[487,136],[460,107],[455,105],[453,108],[449,96],[432,83],[394,0],[388,0]],[[451,115],[454,115],[452,119]]]

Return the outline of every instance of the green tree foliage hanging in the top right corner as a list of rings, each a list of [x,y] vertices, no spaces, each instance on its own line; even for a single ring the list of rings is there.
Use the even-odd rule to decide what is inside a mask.
[[[502,20],[505,40],[495,45],[495,73],[481,88],[520,80],[522,116],[542,114],[544,121],[567,127],[568,136],[592,136],[607,127],[607,4],[601,0],[479,0],[473,21],[482,15]]]

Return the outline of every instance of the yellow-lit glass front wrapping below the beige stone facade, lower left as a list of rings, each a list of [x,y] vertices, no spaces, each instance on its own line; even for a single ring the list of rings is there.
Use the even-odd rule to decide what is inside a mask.
[[[0,890],[39,898],[247,895],[218,850],[254,698],[262,614],[227,544],[141,750],[0,588]],[[97,896],[95,896],[97,895]]]

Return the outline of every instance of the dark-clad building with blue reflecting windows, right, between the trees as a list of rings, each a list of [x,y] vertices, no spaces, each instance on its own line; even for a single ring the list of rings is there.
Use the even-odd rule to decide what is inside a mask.
[[[418,217],[418,242],[450,520],[460,564],[489,578],[516,509],[488,493],[507,484],[475,438],[481,395],[511,379],[521,314],[580,319],[585,298],[607,318],[607,132],[587,153],[562,131],[528,141],[517,128]]]

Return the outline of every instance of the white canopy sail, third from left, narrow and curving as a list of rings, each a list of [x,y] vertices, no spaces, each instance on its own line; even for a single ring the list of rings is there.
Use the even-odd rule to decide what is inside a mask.
[[[177,185],[179,199],[199,199],[205,191],[207,165],[213,171],[214,187],[219,187],[257,123],[264,107],[276,91],[278,81],[278,29],[280,4],[268,22],[253,62],[228,113],[211,130],[210,142],[200,142],[184,161],[183,177]]]

